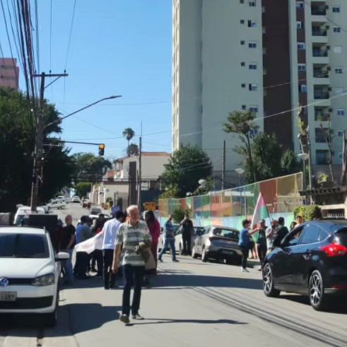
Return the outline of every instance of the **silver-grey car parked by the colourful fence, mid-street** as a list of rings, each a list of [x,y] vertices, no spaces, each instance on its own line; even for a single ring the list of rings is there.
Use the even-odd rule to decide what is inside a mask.
[[[195,237],[192,257],[201,257],[202,261],[216,259],[225,260],[227,264],[241,264],[239,234],[239,230],[220,225],[206,227],[204,233]]]

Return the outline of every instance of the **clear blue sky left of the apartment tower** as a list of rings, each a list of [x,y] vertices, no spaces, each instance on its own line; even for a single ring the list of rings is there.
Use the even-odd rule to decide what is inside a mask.
[[[34,1],[30,2],[33,6]],[[39,0],[38,4],[40,70],[48,73],[50,1]],[[61,73],[66,61],[73,0],[52,0],[52,4],[52,72]],[[10,56],[2,13],[0,18],[1,45]],[[124,154],[127,143],[122,138],[107,138],[121,137],[126,127],[139,135],[142,121],[143,150],[170,151],[171,23],[170,0],[76,1],[66,66],[69,77],[47,88],[45,96],[62,114],[110,95],[123,97],[66,119],[62,139],[104,142],[105,156],[117,158]],[[24,89],[23,78],[20,88]],[[156,132],[162,134],[146,136]],[[72,151],[96,154],[98,148],[74,145]]]

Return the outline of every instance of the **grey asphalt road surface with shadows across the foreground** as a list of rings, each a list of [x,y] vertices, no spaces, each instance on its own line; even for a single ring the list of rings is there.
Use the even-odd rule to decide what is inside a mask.
[[[72,210],[83,214],[78,206]],[[0,346],[347,346],[345,302],[315,312],[300,295],[266,298],[255,268],[245,274],[189,257],[164,261],[143,290],[145,320],[125,327],[122,289],[104,290],[92,278],[61,290],[55,329],[16,318],[1,325]]]

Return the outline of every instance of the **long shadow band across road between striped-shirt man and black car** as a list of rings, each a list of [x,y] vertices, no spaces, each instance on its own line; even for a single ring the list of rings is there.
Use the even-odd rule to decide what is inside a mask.
[[[160,274],[157,278],[151,279],[151,288],[165,287],[226,287],[226,288],[248,288],[262,290],[261,279],[201,276],[186,274]]]

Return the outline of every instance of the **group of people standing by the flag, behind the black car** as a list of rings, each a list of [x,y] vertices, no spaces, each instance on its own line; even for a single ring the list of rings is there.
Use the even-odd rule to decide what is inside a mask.
[[[256,228],[251,230],[251,221],[242,221],[242,230],[240,230],[239,245],[242,251],[242,272],[249,272],[247,270],[247,259],[249,254],[251,258],[260,261],[259,271],[262,271],[264,259],[266,254],[271,252],[272,249],[281,246],[281,242],[286,235],[295,228],[295,226],[304,223],[302,216],[296,218],[296,222],[290,223],[290,230],[285,225],[283,217],[278,220],[271,220],[271,225],[267,227],[265,220],[259,220]]]

